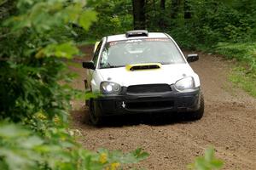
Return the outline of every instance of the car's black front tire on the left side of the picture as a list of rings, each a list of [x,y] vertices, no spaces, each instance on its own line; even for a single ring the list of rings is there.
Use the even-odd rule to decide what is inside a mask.
[[[94,126],[99,126],[102,124],[102,116],[99,116],[99,112],[97,111],[96,105],[93,99],[89,101],[89,115],[90,115],[90,122]]]

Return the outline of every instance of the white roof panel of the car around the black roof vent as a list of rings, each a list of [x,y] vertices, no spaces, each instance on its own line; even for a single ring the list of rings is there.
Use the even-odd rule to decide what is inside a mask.
[[[169,38],[169,37],[162,32],[148,32],[148,36],[139,36],[139,37],[126,37],[125,34],[119,34],[119,35],[108,36],[107,42],[132,40],[132,39],[146,39],[146,38]]]

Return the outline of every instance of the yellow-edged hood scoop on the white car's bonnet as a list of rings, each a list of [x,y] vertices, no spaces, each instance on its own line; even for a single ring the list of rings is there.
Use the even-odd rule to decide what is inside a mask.
[[[160,69],[160,63],[146,63],[146,64],[136,64],[136,65],[126,65],[127,71],[145,71]]]

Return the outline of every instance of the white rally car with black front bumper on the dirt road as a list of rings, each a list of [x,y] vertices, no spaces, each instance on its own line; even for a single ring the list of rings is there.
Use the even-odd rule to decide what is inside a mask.
[[[86,102],[91,122],[143,112],[188,112],[201,119],[201,84],[188,63],[198,59],[197,54],[184,57],[166,33],[127,31],[103,37],[92,61],[83,63],[88,69],[85,87],[102,94]]]

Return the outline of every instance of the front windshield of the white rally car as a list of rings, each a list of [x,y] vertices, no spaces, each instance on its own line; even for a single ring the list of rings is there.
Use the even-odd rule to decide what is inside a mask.
[[[108,42],[102,51],[100,68],[145,63],[169,65],[185,63],[185,61],[171,39],[135,39]]]

